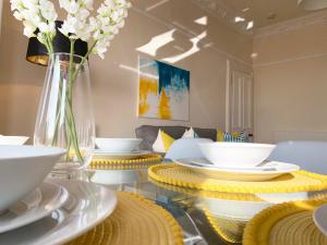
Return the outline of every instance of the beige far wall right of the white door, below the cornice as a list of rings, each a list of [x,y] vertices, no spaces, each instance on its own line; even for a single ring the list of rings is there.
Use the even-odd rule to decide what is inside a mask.
[[[327,25],[254,38],[257,142],[327,139]]]

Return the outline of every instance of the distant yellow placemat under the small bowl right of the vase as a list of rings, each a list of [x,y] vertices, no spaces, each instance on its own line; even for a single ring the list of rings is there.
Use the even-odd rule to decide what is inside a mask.
[[[141,157],[137,157],[135,159],[125,159],[125,160],[119,160],[119,159],[107,159],[107,158],[93,158],[92,162],[89,163],[89,168],[99,168],[102,166],[108,164],[114,164],[114,166],[122,166],[122,164],[145,164],[145,163],[158,163],[162,161],[162,157],[157,154],[149,154],[144,155]]]

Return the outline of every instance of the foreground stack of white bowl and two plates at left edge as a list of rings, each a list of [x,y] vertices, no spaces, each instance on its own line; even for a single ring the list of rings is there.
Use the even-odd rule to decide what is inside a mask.
[[[104,186],[46,179],[64,152],[0,146],[0,244],[62,244],[113,211],[117,198]]]

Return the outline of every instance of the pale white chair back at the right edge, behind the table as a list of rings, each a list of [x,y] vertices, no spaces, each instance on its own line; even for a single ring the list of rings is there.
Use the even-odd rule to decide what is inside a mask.
[[[281,142],[268,160],[295,163],[303,170],[327,174],[327,142]]]

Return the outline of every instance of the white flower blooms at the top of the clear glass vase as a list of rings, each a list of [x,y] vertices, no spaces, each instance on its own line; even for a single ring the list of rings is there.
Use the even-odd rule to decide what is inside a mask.
[[[34,37],[38,29],[37,39],[48,47],[56,36],[55,21],[58,17],[52,1],[10,0],[10,3],[14,17],[23,22],[24,35]],[[90,15],[94,0],[59,0],[59,5],[66,12],[59,32],[72,40],[90,41],[94,45],[92,51],[104,58],[110,41],[124,26],[131,3],[126,0],[105,0],[96,16]]]

